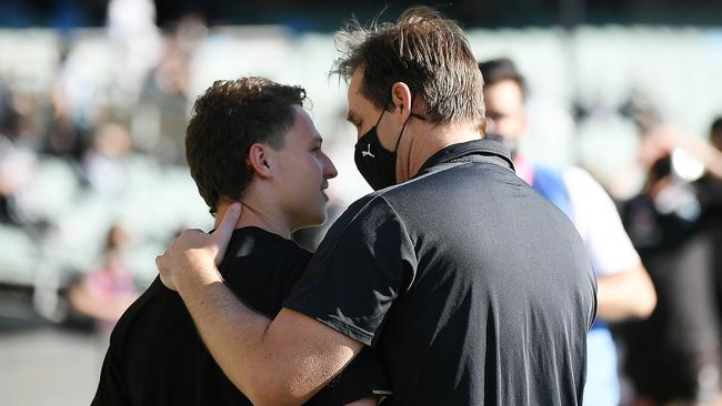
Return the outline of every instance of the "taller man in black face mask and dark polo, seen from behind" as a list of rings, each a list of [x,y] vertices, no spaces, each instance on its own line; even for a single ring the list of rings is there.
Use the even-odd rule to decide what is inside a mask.
[[[339,40],[355,162],[377,191],[333,224],[272,321],[225,287],[218,236],[181,234],[157,258],[164,283],[258,404],[303,403],[371,346],[390,405],[579,405],[589,260],[569,220],[481,140],[482,79],[461,29],[413,8]]]

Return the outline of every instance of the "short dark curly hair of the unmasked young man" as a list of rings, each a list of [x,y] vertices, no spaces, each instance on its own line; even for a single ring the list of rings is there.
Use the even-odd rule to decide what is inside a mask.
[[[254,143],[283,148],[294,105],[305,90],[250,77],[217,81],[195,100],[185,131],[185,159],[211,214],[221,197],[238,201],[253,179],[248,152]]]

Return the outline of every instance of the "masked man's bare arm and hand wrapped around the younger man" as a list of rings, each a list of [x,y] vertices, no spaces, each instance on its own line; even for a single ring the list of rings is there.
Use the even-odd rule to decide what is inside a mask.
[[[300,405],[328,384],[362,344],[283,308],[269,321],[225,287],[215,267],[240,210],[212,234],[183,232],[157,258],[163,283],[177,288],[211,354],[255,405]]]

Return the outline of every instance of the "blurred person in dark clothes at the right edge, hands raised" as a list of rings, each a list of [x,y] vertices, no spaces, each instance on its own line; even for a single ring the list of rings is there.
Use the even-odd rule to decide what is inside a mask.
[[[646,184],[624,204],[624,220],[659,304],[648,321],[624,328],[635,405],[720,404],[713,255],[719,251],[722,153],[658,125],[642,135],[640,162],[648,169]]]

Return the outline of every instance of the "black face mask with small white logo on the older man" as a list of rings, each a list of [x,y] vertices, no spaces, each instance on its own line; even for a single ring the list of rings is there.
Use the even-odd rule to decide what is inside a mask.
[[[357,142],[353,154],[353,160],[355,161],[355,168],[359,170],[363,179],[369,182],[369,185],[374,191],[389,187],[397,184],[397,158],[399,142],[403,135],[403,130],[407,128],[409,119],[412,116],[421,121],[427,119],[423,115],[411,113],[407,121],[403,122],[401,128],[401,133],[397,139],[397,146],[393,148],[393,151],[387,151],[379,141],[379,133],[377,128],[381,122],[381,118],[385,109],[379,115],[379,121],[372,126],[365,134],[361,135],[359,142]]]

